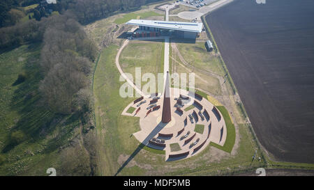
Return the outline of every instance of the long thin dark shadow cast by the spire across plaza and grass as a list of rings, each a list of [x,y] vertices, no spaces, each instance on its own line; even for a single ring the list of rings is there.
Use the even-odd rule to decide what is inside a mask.
[[[151,131],[151,133],[144,139],[144,141],[142,141],[142,143],[138,145],[138,147],[134,150],[130,157],[128,157],[124,164],[122,164],[122,166],[119,168],[117,173],[114,174],[114,176],[117,176],[124,169],[124,167],[126,167],[126,165],[128,165],[128,163],[132,161],[132,159],[137,155],[137,153],[140,152],[140,150],[142,150],[144,146],[149,144],[149,140],[151,140],[151,138],[154,138],[154,136],[156,136],[163,129],[163,127],[165,127],[165,125],[166,125],[165,123],[159,122],[158,125]]]

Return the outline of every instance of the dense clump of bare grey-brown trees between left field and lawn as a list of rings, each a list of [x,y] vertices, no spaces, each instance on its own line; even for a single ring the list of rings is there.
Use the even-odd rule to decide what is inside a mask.
[[[62,114],[90,111],[89,74],[97,53],[94,43],[67,14],[50,18],[43,43],[40,65],[45,78],[39,89],[47,105]]]

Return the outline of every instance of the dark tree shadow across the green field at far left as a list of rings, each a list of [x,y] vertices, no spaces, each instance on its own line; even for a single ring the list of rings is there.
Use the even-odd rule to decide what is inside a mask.
[[[13,126],[8,129],[8,134],[20,131],[24,135],[24,138],[18,143],[13,143],[10,139],[11,137],[9,137],[8,141],[5,142],[4,148],[1,150],[3,153],[13,150],[24,141],[27,141],[27,143],[40,143],[47,135],[54,132],[56,127],[67,125],[66,127],[60,127],[62,130],[60,136],[65,136],[63,137],[65,140],[60,142],[62,144],[66,141],[66,136],[69,136],[70,129],[73,129],[72,126],[76,125],[76,122],[73,122],[75,118],[54,114],[42,101],[42,97],[38,92],[40,80],[43,79],[39,65],[40,47],[40,44],[33,44],[27,47],[27,56],[24,56],[25,63],[22,68],[22,73],[27,76],[27,79],[24,82],[19,79],[15,81],[13,84],[13,86],[15,86],[13,89],[15,90],[13,91],[9,103],[10,111],[14,111],[18,114],[13,118],[15,122]],[[73,123],[73,125],[71,123]],[[70,125],[70,127],[68,127],[68,125]],[[47,152],[52,152],[55,148],[60,147],[54,143],[58,141],[59,138],[60,137],[57,136],[47,143]]]

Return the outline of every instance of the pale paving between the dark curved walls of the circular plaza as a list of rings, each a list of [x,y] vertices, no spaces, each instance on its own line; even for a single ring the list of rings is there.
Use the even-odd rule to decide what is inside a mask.
[[[163,124],[162,122],[160,122],[163,110],[163,97],[160,97],[160,99],[157,102],[157,105],[160,105],[160,109],[149,113],[148,116],[147,107],[149,106],[149,101],[151,100],[151,98],[144,98],[144,100],[146,100],[147,102],[142,104],[141,106],[137,106],[137,104],[139,103],[133,104],[132,102],[126,107],[126,109],[124,109],[122,115],[140,117],[141,130],[133,134],[135,138],[137,138],[137,140],[142,142],[144,145],[150,146],[151,148],[165,150],[166,161],[170,160],[169,155],[172,154],[189,152],[188,156],[184,158],[196,155],[197,153],[202,152],[202,150],[204,150],[204,148],[206,148],[206,146],[209,145],[210,142],[214,142],[217,143],[218,145],[223,146],[225,143],[225,139],[227,138],[227,128],[225,126],[225,120],[223,119],[223,117],[221,117],[221,120],[218,121],[218,118],[216,117],[214,112],[211,111],[214,105],[211,104],[208,100],[203,98],[201,101],[197,100],[197,102],[202,104],[203,106],[202,109],[198,109],[197,107],[195,107],[194,109],[190,109],[189,111],[184,111],[184,109],[186,109],[189,106],[188,104],[186,104],[181,108],[181,110],[184,111],[184,113],[182,115],[179,115],[179,113],[176,112],[176,108],[174,107],[174,104],[177,102],[174,100],[174,97],[179,97],[179,94],[189,95],[189,93],[186,90],[181,89],[179,90],[177,88],[171,88],[170,91],[172,97],[170,101],[172,107],[172,121],[167,124]],[[193,97],[190,97],[189,102],[193,103],[194,100],[195,99]],[[135,111],[134,113],[126,113],[126,111],[131,106],[134,107],[135,109],[141,107],[141,109],[136,115],[134,115]],[[192,114],[193,111],[196,111],[197,113],[198,111],[201,111],[202,113],[204,113],[204,109],[206,109],[207,112],[209,113],[209,120],[207,120],[206,118],[204,120],[201,120],[199,118],[199,120],[197,121],[193,119],[194,122],[191,123],[190,119],[188,118],[188,115]],[[221,113],[220,116],[222,116]],[[184,120],[186,118],[188,118],[188,122],[187,125],[184,125]],[[195,124],[204,125],[204,132],[202,134],[195,133]],[[211,131],[209,134],[210,124]],[[184,131],[178,135],[178,132],[181,131],[181,129],[184,129]],[[221,129],[223,129],[223,135],[220,140]],[[187,134],[187,132],[190,132],[190,134],[186,138],[181,139],[181,137]],[[171,138],[164,138],[160,137],[159,134],[173,134],[173,136]],[[194,134],[195,136],[193,137],[193,139],[189,143],[185,144],[184,141],[192,137]],[[151,145],[151,143],[149,143],[149,140],[151,140],[151,138],[165,139],[165,148],[160,148],[156,145]],[[190,147],[190,143],[195,142],[197,138],[200,138],[200,141],[193,147]],[[177,152],[171,152],[170,144],[172,143],[178,143],[181,150]],[[204,144],[202,145],[202,143]],[[197,152],[194,152],[194,149],[197,148],[199,145],[202,145],[202,148],[200,148],[200,150],[197,150]]]

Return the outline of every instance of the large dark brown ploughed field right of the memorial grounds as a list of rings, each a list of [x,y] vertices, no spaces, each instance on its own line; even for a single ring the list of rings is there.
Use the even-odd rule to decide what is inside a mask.
[[[314,1],[237,0],[206,19],[264,148],[314,163]]]

